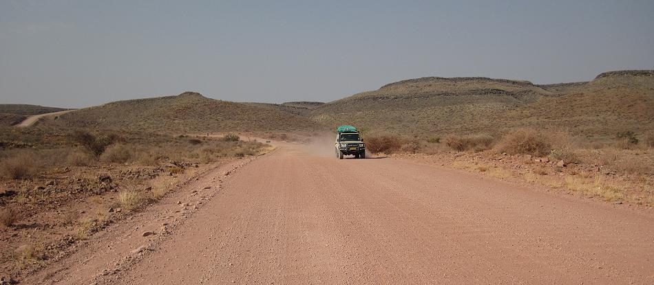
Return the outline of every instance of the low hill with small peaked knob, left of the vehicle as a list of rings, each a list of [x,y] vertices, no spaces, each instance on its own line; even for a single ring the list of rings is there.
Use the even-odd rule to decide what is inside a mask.
[[[291,113],[205,98],[200,93],[118,101],[80,109],[46,122],[66,128],[222,132],[313,130],[317,124]]]

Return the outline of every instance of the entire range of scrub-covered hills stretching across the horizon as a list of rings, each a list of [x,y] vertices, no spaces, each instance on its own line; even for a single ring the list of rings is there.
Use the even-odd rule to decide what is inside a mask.
[[[6,116],[3,124],[16,119]],[[175,133],[333,130],[352,124],[372,133],[423,137],[529,126],[614,137],[618,131],[654,130],[654,71],[611,71],[590,82],[560,84],[426,77],[328,103],[237,103],[186,92],[89,107],[39,124]]]

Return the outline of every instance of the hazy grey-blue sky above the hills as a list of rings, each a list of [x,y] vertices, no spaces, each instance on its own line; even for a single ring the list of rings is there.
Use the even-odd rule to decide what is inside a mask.
[[[654,1],[0,0],[0,103],[326,102],[423,76],[616,69],[654,69]]]

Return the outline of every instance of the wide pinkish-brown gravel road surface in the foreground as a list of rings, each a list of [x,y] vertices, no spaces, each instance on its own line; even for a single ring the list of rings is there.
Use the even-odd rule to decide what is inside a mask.
[[[147,250],[133,251],[151,241],[140,231],[177,198],[28,283],[654,284],[646,209],[295,144],[218,172],[189,185],[213,196]]]

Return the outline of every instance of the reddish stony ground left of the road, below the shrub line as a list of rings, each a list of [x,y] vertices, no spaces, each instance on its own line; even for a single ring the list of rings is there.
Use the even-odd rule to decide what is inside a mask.
[[[10,226],[0,225],[0,277],[21,280],[65,257],[94,233],[178,190],[186,181],[238,160],[65,167],[30,180],[2,181],[0,205],[3,215],[11,215],[13,221]],[[139,201],[125,208],[121,197],[125,192],[138,193]]]

